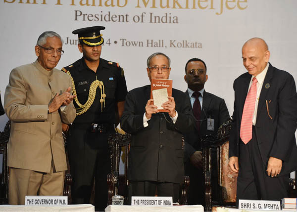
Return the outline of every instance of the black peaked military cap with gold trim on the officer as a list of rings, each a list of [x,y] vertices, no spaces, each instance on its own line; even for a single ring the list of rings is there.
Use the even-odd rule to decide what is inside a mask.
[[[102,34],[100,34],[100,30],[104,29],[105,27],[102,26],[85,27],[74,30],[72,33],[74,35],[78,34],[78,39],[80,42],[83,42],[88,46],[98,46],[102,45],[104,42]]]

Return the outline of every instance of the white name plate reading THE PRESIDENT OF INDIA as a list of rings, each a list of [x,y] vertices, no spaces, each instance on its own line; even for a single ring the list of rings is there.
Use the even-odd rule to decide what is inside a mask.
[[[172,206],[172,197],[134,197],[131,206]]]

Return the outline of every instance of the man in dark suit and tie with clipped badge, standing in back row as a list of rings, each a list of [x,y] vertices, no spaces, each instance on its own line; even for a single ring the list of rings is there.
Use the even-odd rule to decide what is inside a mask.
[[[184,79],[188,84],[186,94],[190,97],[196,118],[196,130],[184,134],[185,173],[190,176],[188,204],[205,206],[200,138],[208,134],[216,136],[218,128],[227,122],[230,116],[224,99],[204,90],[204,84],[208,79],[205,62],[192,58],[186,63],[185,70]],[[212,153],[212,162],[212,166],[216,167],[216,152]]]

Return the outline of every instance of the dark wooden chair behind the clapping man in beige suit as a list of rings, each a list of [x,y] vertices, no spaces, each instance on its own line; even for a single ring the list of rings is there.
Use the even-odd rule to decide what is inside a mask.
[[[10,121],[8,121],[4,127],[4,130],[0,132],[0,154],[2,154],[2,175],[0,181],[0,205],[8,204],[8,181],[9,181],[9,169],[7,167],[7,144],[10,136]],[[63,135],[64,136],[64,135]],[[68,204],[72,203],[71,201],[71,191],[70,185],[72,184],[72,178],[69,170],[69,162],[67,158],[68,170],[65,172],[64,179],[64,190],[63,195],[68,196]]]

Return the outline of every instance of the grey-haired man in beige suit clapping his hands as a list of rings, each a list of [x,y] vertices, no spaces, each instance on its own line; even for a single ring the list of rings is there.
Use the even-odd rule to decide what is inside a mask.
[[[37,60],[10,73],[4,97],[11,120],[10,205],[24,205],[26,195],[62,195],[67,170],[62,123],[75,119],[70,78],[54,68],[63,52],[61,37],[44,32],[35,46]]]

